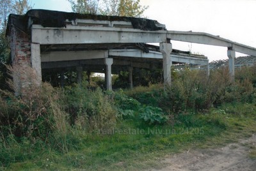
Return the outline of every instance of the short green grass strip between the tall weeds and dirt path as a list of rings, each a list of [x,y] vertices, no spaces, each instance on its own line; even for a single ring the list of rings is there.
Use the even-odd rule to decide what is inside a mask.
[[[242,105],[241,105],[242,106]],[[248,105],[251,108],[252,105]],[[256,117],[251,114],[230,114],[228,110],[212,109],[209,114],[180,114],[177,123],[164,126],[141,126],[132,120],[118,123],[115,129],[102,133],[75,131],[77,149],[65,154],[42,149],[29,153],[26,142],[21,149],[31,156],[26,162],[14,162],[13,170],[138,170],[163,167],[163,156],[191,148],[218,147],[255,133]],[[38,144],[39,145],[39,144]],[[39,146],[36,145],[38,148]],[[13,144],[15,147],[15,144]],[[14,149],[13,149],[14,150]],[[24,152],[24,151],[23,151]],[[2,154],[2,153],[1,153]],[[253,151],[250,153],[253,156]]]

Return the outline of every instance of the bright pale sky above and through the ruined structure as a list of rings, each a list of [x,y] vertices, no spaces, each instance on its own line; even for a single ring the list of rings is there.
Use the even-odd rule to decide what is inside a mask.
[[[47,2],[47,3],[46,3]],[[67,0],[31,0],[35,9],[71,11]],[[144,16],[168,30],[196,31],[256,47],[256,0],[141,0]],[[227,48],[172,41],[173,48],[227,59]],[[243,54],[236,53],[236,56]]]

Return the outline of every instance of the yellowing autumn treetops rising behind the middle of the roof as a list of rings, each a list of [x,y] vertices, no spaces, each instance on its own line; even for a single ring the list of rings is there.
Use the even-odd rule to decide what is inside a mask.
[[[141,17],[148,8],[140,0],[68,0],[77,13]]]

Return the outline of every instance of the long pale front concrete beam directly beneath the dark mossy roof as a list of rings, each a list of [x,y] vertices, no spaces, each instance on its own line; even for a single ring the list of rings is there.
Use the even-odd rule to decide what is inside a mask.
[[[32,42],[41,45],[84,43],[158,43],[166,40],[166,31],[142,31],[115,27],[32,26]]]

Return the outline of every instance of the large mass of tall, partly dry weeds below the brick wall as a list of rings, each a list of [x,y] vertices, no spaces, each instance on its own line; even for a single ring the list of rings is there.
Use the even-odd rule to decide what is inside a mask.
[[[32,158],[38,148],[68,152],[79,144],[76,131],[115,126],[116,110],[100,89],[38,84],[30,67],[13,66],[9,72],[21,82],[17,87],[9,80],[13,91],[0,90],[0,166]]]

